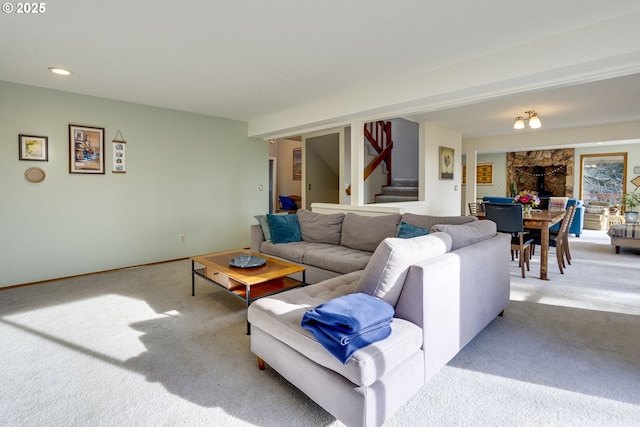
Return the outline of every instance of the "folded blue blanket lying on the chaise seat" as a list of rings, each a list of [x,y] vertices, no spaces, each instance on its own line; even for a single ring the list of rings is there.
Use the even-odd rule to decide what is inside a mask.
[[[301,325],[343,364],[367,345],[391,334],[393,307],[367,294],[349,294],[307,311]]]

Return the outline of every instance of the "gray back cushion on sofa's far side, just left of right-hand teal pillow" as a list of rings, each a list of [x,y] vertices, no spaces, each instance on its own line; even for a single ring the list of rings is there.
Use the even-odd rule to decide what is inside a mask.
[[[347,213],[342,221],[340,244],[352,249],[373,252],[387,237],[395,237],[400,214],[365,216]]]

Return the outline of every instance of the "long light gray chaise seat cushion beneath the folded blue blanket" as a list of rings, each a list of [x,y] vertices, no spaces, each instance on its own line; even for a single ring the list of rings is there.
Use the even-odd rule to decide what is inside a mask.
[[[369,386],[420,351],[422,329],[394,318],[391,335],[356,351],[346,365],[333,357],[300,325],[304,313],[334,298],[354,293],[362,271],[345,274],[315,285],[261,298],[251,304],[247,316],[257,327],[289,347],[358,386]]]

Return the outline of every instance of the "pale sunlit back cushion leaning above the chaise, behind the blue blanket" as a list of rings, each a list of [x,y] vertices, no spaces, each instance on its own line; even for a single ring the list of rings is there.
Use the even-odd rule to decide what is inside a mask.
[[[358,292],[378,297],[395,307],[409,267],[447,253],[450,248],[451,237],[443,233],[431,233],[412,239],[384,239],[364,269],[358,283]]]

